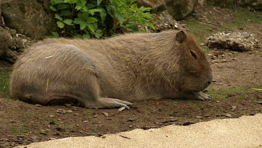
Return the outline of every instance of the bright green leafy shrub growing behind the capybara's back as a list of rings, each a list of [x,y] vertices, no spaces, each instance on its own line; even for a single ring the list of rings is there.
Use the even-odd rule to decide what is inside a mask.
[[[61,34],[78,38],[101,38],[105,29],[109,29],[110,35],[113,35],[120,28],[130,32],[147,32],[148,26],[154,28],[149,22],[152,15],[145,13],[151,8],[138,8],[133,4],[134,1],[51,0],[50,9],[56,11],[57,25],[63,29]],[[59,37],[57,32],[52,34]]]

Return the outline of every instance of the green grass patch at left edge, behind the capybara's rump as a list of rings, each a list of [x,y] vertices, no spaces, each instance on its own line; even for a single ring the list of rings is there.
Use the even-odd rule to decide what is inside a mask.
[[[11,75],[11,69],[5,68],[0,70],[0,95],[1,96],[10,96],[9,92],[9,77]]]

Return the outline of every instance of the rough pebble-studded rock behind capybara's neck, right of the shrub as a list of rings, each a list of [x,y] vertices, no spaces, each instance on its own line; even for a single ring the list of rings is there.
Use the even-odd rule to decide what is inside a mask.
[[[167,13],[167,11],[156,13],[152,16],[152,18],[153,19],[150,22],[152,22],[155,26],[155,30],[149,29],[149,32],[160,32],[161,30],[168,29],[188,30],[186,24],[175,21],[172,16]]]

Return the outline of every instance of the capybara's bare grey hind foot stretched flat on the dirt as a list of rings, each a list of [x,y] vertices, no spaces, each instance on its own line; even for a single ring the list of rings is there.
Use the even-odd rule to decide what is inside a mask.
[[[128,105],[133,105],[130,102],[122,101],[118,99],[113,98],[96,98],[95,100],[96,104],[93,104],[93,106],[85,106],[87,108],[120,108],[125,107],[126,109],[129,109]],[[93,103],[93,102],[91,102]]]

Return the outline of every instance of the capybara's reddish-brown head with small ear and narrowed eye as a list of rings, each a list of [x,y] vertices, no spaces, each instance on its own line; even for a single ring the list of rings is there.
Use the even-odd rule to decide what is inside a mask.
[[[176,34],[175,40],[178,44],[181,68],[181,87],[184,92],[200,92],[208,87],[212,82],[212,71],[206,60],[205,53],[197,44],[195,38],[185,32]]]

